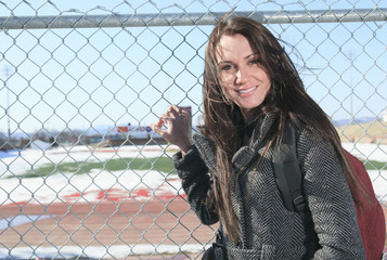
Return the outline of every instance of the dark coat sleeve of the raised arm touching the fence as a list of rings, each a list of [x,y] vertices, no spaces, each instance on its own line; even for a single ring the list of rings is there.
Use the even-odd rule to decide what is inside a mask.
[[[184,157],[182,157],[181,152],[175,154],[173,165],[181,179],[190,206],[196,212],[201,222],[207,225],[217,223],[219,217],[215,206],[207,203],[212,182],[208,168],[196,146],[192,145]]]

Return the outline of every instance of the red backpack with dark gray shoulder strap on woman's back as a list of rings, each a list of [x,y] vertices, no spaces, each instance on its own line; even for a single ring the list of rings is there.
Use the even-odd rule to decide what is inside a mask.
[[[379,260],[386,240],[386,222],[382,205],[375,196],[369,173],[363,162],[345,151],[359,183],[369,195],[366,199],[360,190],[356,192],[359,200],[356,204],[358,223],[364,251],[367,260]],[[305,199],[301,193],[302,176],[299,169],[295,130],[293,123],[285,132],[280,147],[273,154],[275,181],[284,200],[285,207],[291,211],[304,212]],[[371,200],[371,202],[369,202]]]

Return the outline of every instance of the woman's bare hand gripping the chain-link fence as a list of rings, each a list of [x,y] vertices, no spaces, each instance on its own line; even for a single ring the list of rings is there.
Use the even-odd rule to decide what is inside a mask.
[[[166,129],[163,129],[163,125]],[[153,131],[171,144],[177,145],[183,155],[191,148],[191,115],[189,112],[178,107],[169,106],[166,114],[158,118],[157,125],[150,125]]]

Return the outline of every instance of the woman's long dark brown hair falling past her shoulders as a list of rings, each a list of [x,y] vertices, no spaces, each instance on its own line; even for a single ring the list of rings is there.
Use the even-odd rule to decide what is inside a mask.
[[[231,203],[232,181],[236,178],[231,170],[231,158],[241,147],[242,140],[238,134],[241,128],[235,122],[238,107],[230,103],[223,94],[217,51],[223,35],[236,34],[244,36],[253,51],[258,53],[260,65],[267,70],[271,80],[269,93],[250,118],[254,121],[266,113],[275,115],[267,139],[266,151],[280,142],[287,120],[293,120],[297,128],[302,128],[307,123],[312,129],[317,129],[315,133],[336,148],[351,191],[353,186],[358,186],[350,165],[340,148],[337,131],[326,114],[307,94],[295,65],[279,40],[260,23],[248,17],[232,16],[229,13],[218,21],[206,48],[203,87],[204,126],[201,129],[217,146],[217,173],[212,174],[211,198],[227,234],[234,243],[241,240],[241,234],[238,220]]]

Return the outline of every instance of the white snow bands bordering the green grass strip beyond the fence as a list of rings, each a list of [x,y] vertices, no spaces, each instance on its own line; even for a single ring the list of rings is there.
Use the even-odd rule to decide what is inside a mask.
[[[344,147],[359,158],[387,161],[387,145],[345,143]],[[152,158],[171,156],[173,146],[121,146],[107,148],[89,148],[87,146],[59,147],[47,151],[24,150],[9,153],[0,152],[0,205],[14,203],[50,204],[56,200],[72,202],[79,199],[74,194],[82,193],[80,199],[95,202],[101,199],[101,191],[151,190],[152,195],[177,193],[181,185],[176,176],[166,176],[158,171],[106,171],[93,170],[89,174],[62,173],[47,178],[5,178],[23,174],[31,168],[44,164],[66,161],[106,161],[114,158],[140,157]],[[379,198],[387,196],[387,170],[370,170],[375,193]],[[175,179],[173,179],[175,178]],[[167,180],[168,179],[168,180]],[[168,182],[168,183],[167,183]],[[181,191],[180,191],[181,192]],[[158,194],[157,194],[158,193]],[[143,199],[146,199],[144,197]],[[141,199],[138,194],[138,199]]]

